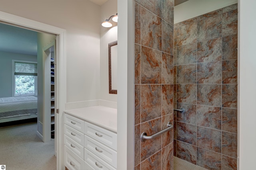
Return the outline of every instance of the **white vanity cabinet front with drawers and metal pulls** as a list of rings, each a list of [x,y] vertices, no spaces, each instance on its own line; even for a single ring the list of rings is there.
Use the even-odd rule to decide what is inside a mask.
[[[66,169],[115,170],[117,168],[117,134],[98,126],[97,123],[85,121],[86,118],[78,117],[75,114],[64,114]]]

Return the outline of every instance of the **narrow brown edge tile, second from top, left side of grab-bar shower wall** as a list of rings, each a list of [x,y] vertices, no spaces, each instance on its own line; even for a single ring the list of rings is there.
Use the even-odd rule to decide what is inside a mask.
[[[134,51],[135,51],[135,55],[134,55],[134,84],[140,84],[140,66],[141,66],[141,58],[140,58],[140,45],[135,44],[134,45]]]

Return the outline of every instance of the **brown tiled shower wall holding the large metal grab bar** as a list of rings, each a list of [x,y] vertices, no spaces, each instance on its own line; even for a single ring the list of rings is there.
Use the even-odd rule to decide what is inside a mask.
[[[173,170],[174,0],[134,0],[135,21],[135,170]]]

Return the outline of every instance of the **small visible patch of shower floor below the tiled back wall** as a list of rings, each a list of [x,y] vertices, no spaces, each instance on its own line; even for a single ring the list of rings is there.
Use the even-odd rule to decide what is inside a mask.
[[[174,164],[174,170],[207,170],[206,168],[197,166],[186,160],[177,158],[176,156],[174,156],[173,164]]]

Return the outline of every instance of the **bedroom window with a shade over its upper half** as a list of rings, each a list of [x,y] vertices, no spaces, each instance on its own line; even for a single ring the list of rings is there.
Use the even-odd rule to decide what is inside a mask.
[[[37,63],[13,60],[13,96],[37,95]]]

